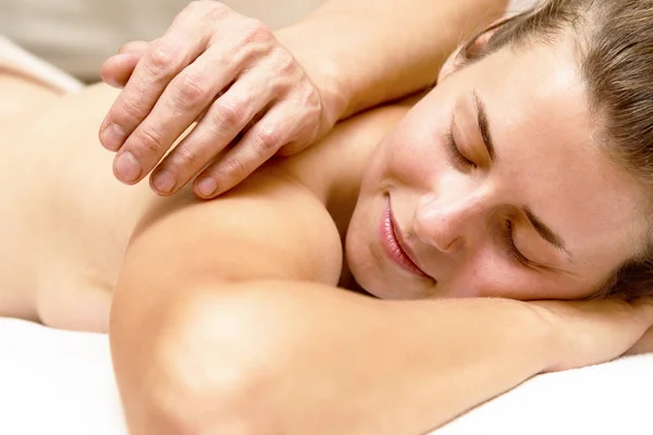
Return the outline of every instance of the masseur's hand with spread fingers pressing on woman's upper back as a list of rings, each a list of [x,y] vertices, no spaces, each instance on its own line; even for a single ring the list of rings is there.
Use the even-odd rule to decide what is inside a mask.
[[[215,1],[190,3],[160,39],[124,46],[104,62],[102,78],[124,87],[100,128],[102,145],[118,152],[115,176],[134,184],[157,166],[150,185],[161,195],[201,172],[194,191],[215,197],[336,121],[262,23]]]

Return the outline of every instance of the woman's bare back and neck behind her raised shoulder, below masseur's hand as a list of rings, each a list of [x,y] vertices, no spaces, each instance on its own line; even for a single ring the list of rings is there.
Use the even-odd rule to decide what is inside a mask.
[[[96,85],[0,124],[0,315],[106,331],[113,285],[135,229],[153,215],[202,207],[188,190],[160,198],[147,183],[130,187],[113,178],[113,154],[101,148],[97,132],[116,95]],[[312,245],[319,258],[338,263],[325,277],[335,284],[342,263],[336,229],[341,235],[345,229],[374,145],[405,110],[378,110],[342,124],[308,152],[269,163],[227,198],[278,197],[291,201],[293,212],[311,214],[315,224],[303,231],[324,238]],[[326,191],[346,197],[338,210],[324,207]],[[193,222],[181,225],[183,231]]]

